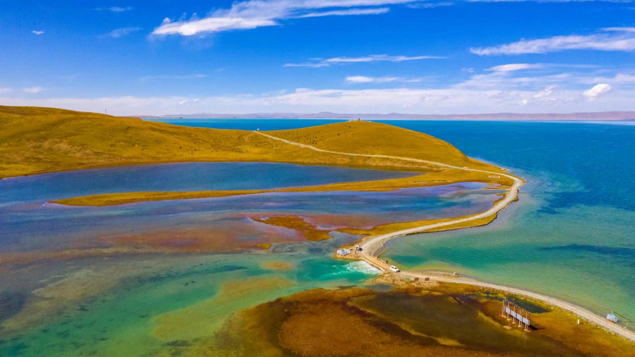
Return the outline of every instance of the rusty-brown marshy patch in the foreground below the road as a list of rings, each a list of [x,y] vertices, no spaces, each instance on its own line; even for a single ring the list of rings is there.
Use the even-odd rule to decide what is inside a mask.
[[[479,290],[441,285],[393,292],[307,290],[250,307],[217,333],[169,346],[187,356],[635,356],[632,346],[572,318],[533,314],[541,330],[523,332],[500,318],[501,303]],[[630,347],[630,349],[629,349]]]

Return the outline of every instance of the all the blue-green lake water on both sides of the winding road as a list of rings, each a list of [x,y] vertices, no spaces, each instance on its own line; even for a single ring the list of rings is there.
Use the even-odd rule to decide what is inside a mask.
[[[274,130],[335,121],[171,122]],[[490,226],[397,239],[386,257],[404,267],[457,271],[546,293],[601,314],[614,309],[635,316],[635,126],[387,123],[447,140],[469,156],[510,168],[529,183],[520,201]],[[308,288],[364,285],[375,273],[358,262],[331,259],[333,249],[354,236],[331,232],[333,239],[306,242],[288,229],[253,222],[253,217],[301,215],[330,230],[342,226],[342,220],[371,226],[386,220],[454,217],[483,210],[497,196],[496,191],[482,191],[483,185],[461,184],[93,208],[46,204],[50,199],[138,190],[289,187],[398,175],[403,173],[196,163],[1,180],[0,250],[15,265],[0,265],[0,355],[160,355],[170,346],[210,335],[240,309]],[[288,243],[277,244],[272,252],[241,250],[276,237]],[[238,250],[197,245],[204,239]]]

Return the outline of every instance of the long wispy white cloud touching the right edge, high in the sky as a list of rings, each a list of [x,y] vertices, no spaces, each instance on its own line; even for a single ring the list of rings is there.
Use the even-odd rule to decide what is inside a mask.
[[[545,39],[521,39],[500,46],[471,48],[472,53],[489,55],[523,55],[565,50],[635,51],[633,27],[607,27],[591,35],[554,36]]]

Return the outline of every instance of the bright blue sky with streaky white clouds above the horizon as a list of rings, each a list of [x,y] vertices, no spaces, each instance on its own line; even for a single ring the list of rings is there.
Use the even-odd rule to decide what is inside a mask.
[[[635,110],[630,1],[3,0],[0,53],[3,105]]]

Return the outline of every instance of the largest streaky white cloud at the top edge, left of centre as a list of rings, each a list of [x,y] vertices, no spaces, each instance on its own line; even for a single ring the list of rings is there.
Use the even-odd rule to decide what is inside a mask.
[[[377,15],[387,6],[415,3],[419,0],[248,0],[237,1],[229,9],[216,10],[207,17],[196,14],[189,20],[170,18],[154,29],[154,35],[193,36],[211,32],[246,30],[279,25],[281,20],[302,17]],[[363,8],[363,7],[367,8]],[[324,10],[324,11],[323,11]]]

